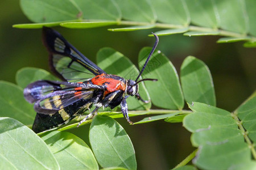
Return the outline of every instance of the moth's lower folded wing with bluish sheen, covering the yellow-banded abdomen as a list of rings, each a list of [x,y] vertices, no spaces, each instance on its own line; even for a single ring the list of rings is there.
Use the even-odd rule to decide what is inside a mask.
[[[104,89],[94,84],[39,80],[28,84],[23,93],[28,102],[35,103],[36,112],[53,114],[81,99],[92,99],[96,90]]]

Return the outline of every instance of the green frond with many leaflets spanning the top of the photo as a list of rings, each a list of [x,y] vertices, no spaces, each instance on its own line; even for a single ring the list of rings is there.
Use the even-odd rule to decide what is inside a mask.
[[[129,25],[131,27],[108,30],[162,28],[156,32],[159,36],[174,33],[187,36],[220,35],[226,37],[217,42],[247,41],[244,46],[255,47],[254,0],[20,0],[20,6],[27,18],[35,24],[16,24],[16,28],[42,28],[43,25],[67,28]]]

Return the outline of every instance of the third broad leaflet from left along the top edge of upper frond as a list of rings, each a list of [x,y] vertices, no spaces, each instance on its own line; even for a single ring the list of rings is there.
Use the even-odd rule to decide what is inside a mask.
[[[154,23],[156,16],[151,3],[146,0],[115,1],[119,6],[122,18],[137,22]]]

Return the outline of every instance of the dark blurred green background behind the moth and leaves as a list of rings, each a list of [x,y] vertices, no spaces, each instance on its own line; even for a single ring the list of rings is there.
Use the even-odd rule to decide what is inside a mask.
[[[15,73],[22,67],[39,67],[49,71],[48,53],[42,45],[41,30],[12,28],[13,24],[31,23],[20,9],[19,1],[1,1],[0,8],[0,80],[15,83]],[[97,51],[109,46],[125,54],[135,65],[139,50],[154,44],[154,38],[147,35],[158,30],[109,32],[107,28],[113,27],[55,29],[93,62],[96,61]],[[233,111],[255,90],[256,49],[243,48],[242,42],[217,44],[219,38],[164,36],[159,37],[158,49],[170,58],[178,73],[187,56],[204,61],[213,76],[217,107]],[[135,122],[141,118],[132,119]],[[191,134],[182,124],[157,121],[130,126],[124,118],[117,121],[133,142],[138,169],[172,168],[195,149],[189,141]],[[89,126],[84,126],[72,130],[72,133],[89,144],[88,129]]]

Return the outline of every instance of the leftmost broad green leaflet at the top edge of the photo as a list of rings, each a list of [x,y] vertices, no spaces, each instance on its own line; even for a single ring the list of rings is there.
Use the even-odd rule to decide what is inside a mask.
[[[81,8],[69,0],[20,0],[20,6],[27,18],[35,23],[74,20],[82,16]]]

